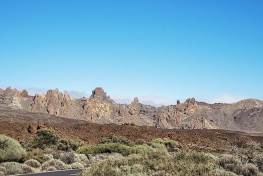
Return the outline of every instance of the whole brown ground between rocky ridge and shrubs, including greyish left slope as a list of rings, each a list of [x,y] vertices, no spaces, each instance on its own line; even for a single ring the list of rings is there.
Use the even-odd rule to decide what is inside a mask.
[[[21,110],[0,109],[0,134],[6,134],[17,140],[28,141],[37,129],[49,128],[57,131],[62,138],[82,139],[85,143],[94,144],[101,137],[110,133],[125,136],[130,140],[155,138],[171,138],[189,148],[196,150],[213,149],[214,152],[224,152],[232,143],[255,141],[263,144],[263,136],[259,134],[227,130],[168,130],[150,127],[138,127],[131,124],[94,124],[87,121],[74,120],[42,113],[30,113]],[[261,134],[262,135],[262,134]]]

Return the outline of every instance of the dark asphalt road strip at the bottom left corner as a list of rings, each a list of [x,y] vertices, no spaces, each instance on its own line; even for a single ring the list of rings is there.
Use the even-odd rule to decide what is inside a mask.
[[[71,170],[56,170],[48,172],[19,174],[23,176],[76,176],[79,172],[86,168],[71,169]]]

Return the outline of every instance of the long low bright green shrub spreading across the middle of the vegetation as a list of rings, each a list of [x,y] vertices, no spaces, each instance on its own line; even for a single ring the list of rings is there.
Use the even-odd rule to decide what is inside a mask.
[[[147,153],[151,150],[153,150],[153,148],[148,145],[135,145],[131,147],[120,143],[105,143],[80,147],[77,150],[77,153],[88,155],[97,153],[117,152],[121,153],[123,156],[127,156],[132,153]]]

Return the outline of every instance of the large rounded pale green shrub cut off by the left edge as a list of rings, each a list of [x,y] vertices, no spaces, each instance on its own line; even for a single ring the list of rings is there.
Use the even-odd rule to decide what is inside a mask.
[[[19,161],[25,150],[15,139],[0,135],[0,162]]]

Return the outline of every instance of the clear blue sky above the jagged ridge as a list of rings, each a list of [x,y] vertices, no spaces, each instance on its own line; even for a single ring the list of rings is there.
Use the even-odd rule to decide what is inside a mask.
[[[263,1],[0,0],[0,87],[117,102],[263,99]]]

